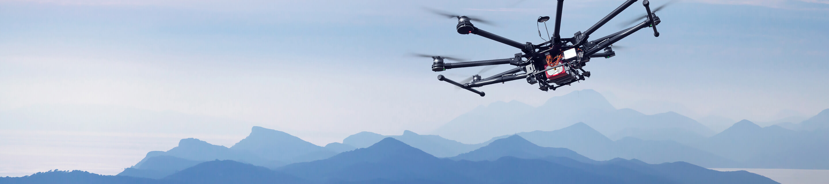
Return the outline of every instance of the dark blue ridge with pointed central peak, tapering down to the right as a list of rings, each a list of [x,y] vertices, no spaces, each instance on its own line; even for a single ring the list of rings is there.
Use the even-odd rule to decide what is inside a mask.
[[[384,138],[369,148],[324,160],[293,163],[277,170],[323,183],[777,183],[759,175],[716,172],[682,162],[661,166],[635,160],[612,161],[589,164],[568,157],[452,161],[431,156],[394,138]],[[623,167],[625,164],[635,167]],[[675,170],[682,172],[674,173]],[[697,179],[685,182],[672,178]]]

